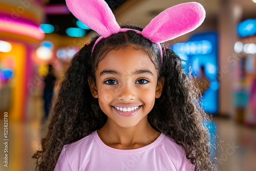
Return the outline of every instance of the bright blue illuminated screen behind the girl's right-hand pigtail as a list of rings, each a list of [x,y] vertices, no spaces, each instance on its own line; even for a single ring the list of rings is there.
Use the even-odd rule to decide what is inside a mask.
[[[218,102],[218,40],[216,32],[199,33],[191,36],[187,42],[176,43],[172,49],[184,61],[184,71],[197,78],[204,76],[202,105],[205,112],[217,114]]]

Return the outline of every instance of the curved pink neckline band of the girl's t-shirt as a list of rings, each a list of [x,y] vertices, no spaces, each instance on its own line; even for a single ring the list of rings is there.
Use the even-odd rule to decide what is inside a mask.
[[[151,148],[154,148],[155,146],[157,146],[162,141],[162,139],[165,137],[165,135],[163,133],[161,133],[154,142],[152,142],[146,146],[143,146],[140,148],[135,148],[135,149],[117,149],[117,148],[113,148],[113,147],[110,147],[110,146],[104,144],[104,142],[101,141],[101,139],[99,138],[97,131],[92,132],[92,135],[93,135],[95,141],[97,142],[97,144],[102,149],[104,149],[105,151],[111,152],[111,153],[119,153],[119,154],[134,154],[134,153],[141,153],[141,152],[147,151],[148,149],[151,149]]]

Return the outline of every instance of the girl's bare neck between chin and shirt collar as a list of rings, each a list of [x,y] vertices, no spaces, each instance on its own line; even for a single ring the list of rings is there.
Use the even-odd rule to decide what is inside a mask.
[[[161,133],[148,123],[147,117],[134,127],[121,127],[108,118],[105,125],[98,130],[103,143],[118,149],[134,149],[154,142]]]

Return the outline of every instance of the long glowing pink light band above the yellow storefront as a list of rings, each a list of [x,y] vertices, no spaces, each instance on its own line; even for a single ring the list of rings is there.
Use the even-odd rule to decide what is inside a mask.
[[[23,22],[16,22],[12,19],[7,20],[2,17],[0,17],[0,31],[21,34],[33,37],[37,40],[42,40],[45,38],[45,33],[39,27]]]

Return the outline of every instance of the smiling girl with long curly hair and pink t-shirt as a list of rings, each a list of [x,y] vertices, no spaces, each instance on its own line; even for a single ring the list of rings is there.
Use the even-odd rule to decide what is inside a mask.
[[[156,42],[166,37],[164,32],[154,32],[151,24],[143,30],[115,25],[119,31],[113,31],[113,16],[105,14],[104,2],[76,2],[67,1],[70,10],[92,29],[100,28],[101,36],[86,44],[66,71],[48,132],[33,156],[37,169],[214,170],[209,133],[203,125],[208,116],[198,102],[200,91],[183,72],[181,59]],[[180,15],[202,9],[197,3],[190,6],[180,7]],[[74,12],[85,7],[86,13]],[[84,16],[92,17],[92,9],[96,19],[90,23]]]

